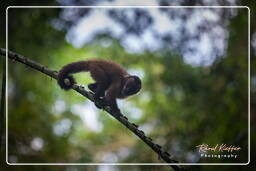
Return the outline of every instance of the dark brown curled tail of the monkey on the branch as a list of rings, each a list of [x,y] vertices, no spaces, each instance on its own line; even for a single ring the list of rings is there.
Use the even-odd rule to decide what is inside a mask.
[[[69,90],[76,83],[73,76],[70,74],[89,71],[89,61],[79,61],[67,64],[62,67],[58,74],[58,84],[64,90]],[[65,79],[69,80],[70,84],[65,83]]]

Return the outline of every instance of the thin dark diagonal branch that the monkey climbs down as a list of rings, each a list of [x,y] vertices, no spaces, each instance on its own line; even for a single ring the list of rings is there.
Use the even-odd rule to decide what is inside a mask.
[[[3,48],[0,48],[0,55],[6,56],[6,50]],[[57,71],[50,70],[47,67],[37,62],[34,62],[30,59],[27,59],[26,57],[21,56],[17,53],[8,51],[8,58],[13,61],[18,61],[20,63],[23,63],[24,65],[29,66],[39,72],[42,72],[51,78],[57,79],[57,76],[58,76]],[[93,93],[86,91],[83,86],[74,85],[72,89],[82,94],[89,100],[94,101]],[[137,125],[135,125],[134,123],[130,123],[123,114],[114,113],[111,111],[109,107],[106,107],[106,106],[101,106],[101,107],[103,110],[108,112],[111,116],[116,118],[121,124],[127,127],[130,131],[132,131],[136,136],[138,136],[144,143],[146,143],[155,153],[158,154],[159,158],[162,158],[166,163],[178,163],[178,161],[171,159],[170,154],[168,152],[163,151],[160,145],[155,144],[151,138],[147,137],[143,131],[139,130]],[[184,170],[184,168],[178,165],[169,165],[169,166],[172,167],[175,171]]]

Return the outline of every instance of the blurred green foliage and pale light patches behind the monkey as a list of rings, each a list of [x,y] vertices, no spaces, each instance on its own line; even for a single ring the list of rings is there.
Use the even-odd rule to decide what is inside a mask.
[[[8,5],[247,5],[239,1],[47,0],[1,4],[1,47]],[[121,111],[181,163],[248,162],[248,93],[255,121],[256,29],[247,8],[9,8],[8,47],[53,70],[73,61],[116,61],[138,75],[141,92]],[[251,35],[249,42],[248,35]],[[2,36],[3,35],[3,36]],[[251,46],[251,92],[248,48]],[[1,67],[4,60],[1,60]],[[1,69],[2,75],[2,69]],[[92,82],[88,73],[75,75]],[[1,82],[2,84],[2,79]],[[8,162],[162,163],[110,115],[56,81],[8,61]],[[2,106],[1,106],[1,109]],[[3,120],[2,120],[3,121]],[[4,123],[1,121],[1,127]],[[2,129],[3,130],[3,129]],[[251,126],[255,131],[255,125]],[[5,162],[2,132],[1,161]],[[251,137],[255,148],[255,136]],[[197,145],[239,146],[237,158],[204,158]],[[218,153],[221,154],[221,153]],[[224,154],[224,153],[223,153]],[[225,153],[226,154],[226,153]],[[255,150],[251,149],[251,157]],[[170,170],[168,166],[8,166],[4,170]],[[216,170],[186,166],[188,170]],[[219,170],[241,170],[221,166]],[[245,169],[248,170],[248,169]]]

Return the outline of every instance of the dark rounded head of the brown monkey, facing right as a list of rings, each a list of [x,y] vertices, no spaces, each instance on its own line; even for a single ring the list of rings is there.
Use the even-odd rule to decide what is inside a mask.
[[[130,75],[125,77],[125,83],[122,89],[122,95],[131,96],[136,94],[141,89],[141,80],[135,75]]]

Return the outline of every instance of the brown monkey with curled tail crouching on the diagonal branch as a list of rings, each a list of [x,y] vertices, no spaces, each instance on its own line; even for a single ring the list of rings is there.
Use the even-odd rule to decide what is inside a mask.
[[[64,90],[69,90],[75,79],[70,75],[77,72],[90,72],[95,83],[89,84],[88,88],[93,91],[95,101],[103,102],[104,98],[111,110],[119,112],[116,98],[126,98],[136,94],[141,89],[141,80],[139,77],[129,75],[120,65],[113,61],[92,59],[79,61],[65,65],[58,74],[58,84]],[[70,84],[65,83],[69,79]],[[95,103],[96,106],[99,106]]]

